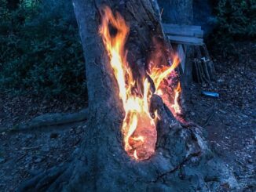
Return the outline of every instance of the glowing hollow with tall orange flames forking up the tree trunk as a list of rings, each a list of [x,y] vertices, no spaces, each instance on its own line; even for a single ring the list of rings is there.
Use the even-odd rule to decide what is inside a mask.
[[[148,82],[148,78],[144,77],[141,79],[143,89],[137,89],[136,94],[134,91],[132,92],[138,86],[136,86],[137,82],[134,81],[129,63],[127,63],[127,52],[124,48],[130,28],[119,13],[114,16],[108,7],[104,8],[103,13],[100,34],[119,85],[119,97],[123,101],[125,111],[122,125],[124,147],[131,158],[148,159],[155,152],[157,138],[155,129],[157,119],[152,118],[148,107],[152,97],[151,84]],[[115,35],[111,34],[110,25],[116,29]],[[174,63],[170,67],[152,68],[149,75],[155,83],[157,92],[161,91],[158,88],[163,78],[174,71],[178,63],[178,58],[175,57]],[[155,117],[157,117],[156,112]]]

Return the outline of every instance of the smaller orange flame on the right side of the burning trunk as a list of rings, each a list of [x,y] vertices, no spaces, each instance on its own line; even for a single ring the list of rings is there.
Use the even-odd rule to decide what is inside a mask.
[[[177,54],[170,53],[170,50],[165,48],[163,42],[156,38],[153,38],[153,45],[155,49],[150,56],[148,75],[154,82],[155,94],[161,96],[163,103],[174,114],[174,118],[178,121],[185,121],[181,117],[181,84],[180,82],[176,83],[177,73],[174,71],[181,62],[180,58]],[[170,62],[170,58],[172,58],[172,62]],[[170,66],[166,66],[166,63],[169,63]],[[177,88],[172,89],[175,84],[177,84]]]

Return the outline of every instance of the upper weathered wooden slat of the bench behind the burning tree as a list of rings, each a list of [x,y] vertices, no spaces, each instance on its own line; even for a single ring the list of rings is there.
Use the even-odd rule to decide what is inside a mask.
[[[196,25],[163,24],[166,34],[203,38],[203,30]]]

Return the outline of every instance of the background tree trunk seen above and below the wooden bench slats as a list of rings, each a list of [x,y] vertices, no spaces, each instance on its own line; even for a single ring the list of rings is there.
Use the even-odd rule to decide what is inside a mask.
[[[194,15],[198,17],[199,14],[203,13],[203,10],[201,12],[199,10],[199,8],[202,9],[202,7],[199,7],[199,4],[203,5],[206,2],[203,3],[193,0],[159,0],[163,22],[167,24],[193,25],[195,24]],[[207,10],[204,11],[207,12]],[[197,17],[196,22],[198,20]],[[184,88],[187,88],[192,81],[210,83],[211,80],[214,80],[214,63],[210,60],[206,45],[203,45],[202,50],[195,45],[184,46],[186,50],[186,62],[184,74],[181,75],[181,82]]]

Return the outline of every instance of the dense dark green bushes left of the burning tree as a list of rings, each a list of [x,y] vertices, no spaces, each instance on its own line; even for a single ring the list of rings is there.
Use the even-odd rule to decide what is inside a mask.
[[[85,65],[71,1],[0,0],[0,90],[37,96],[85,92]]]

